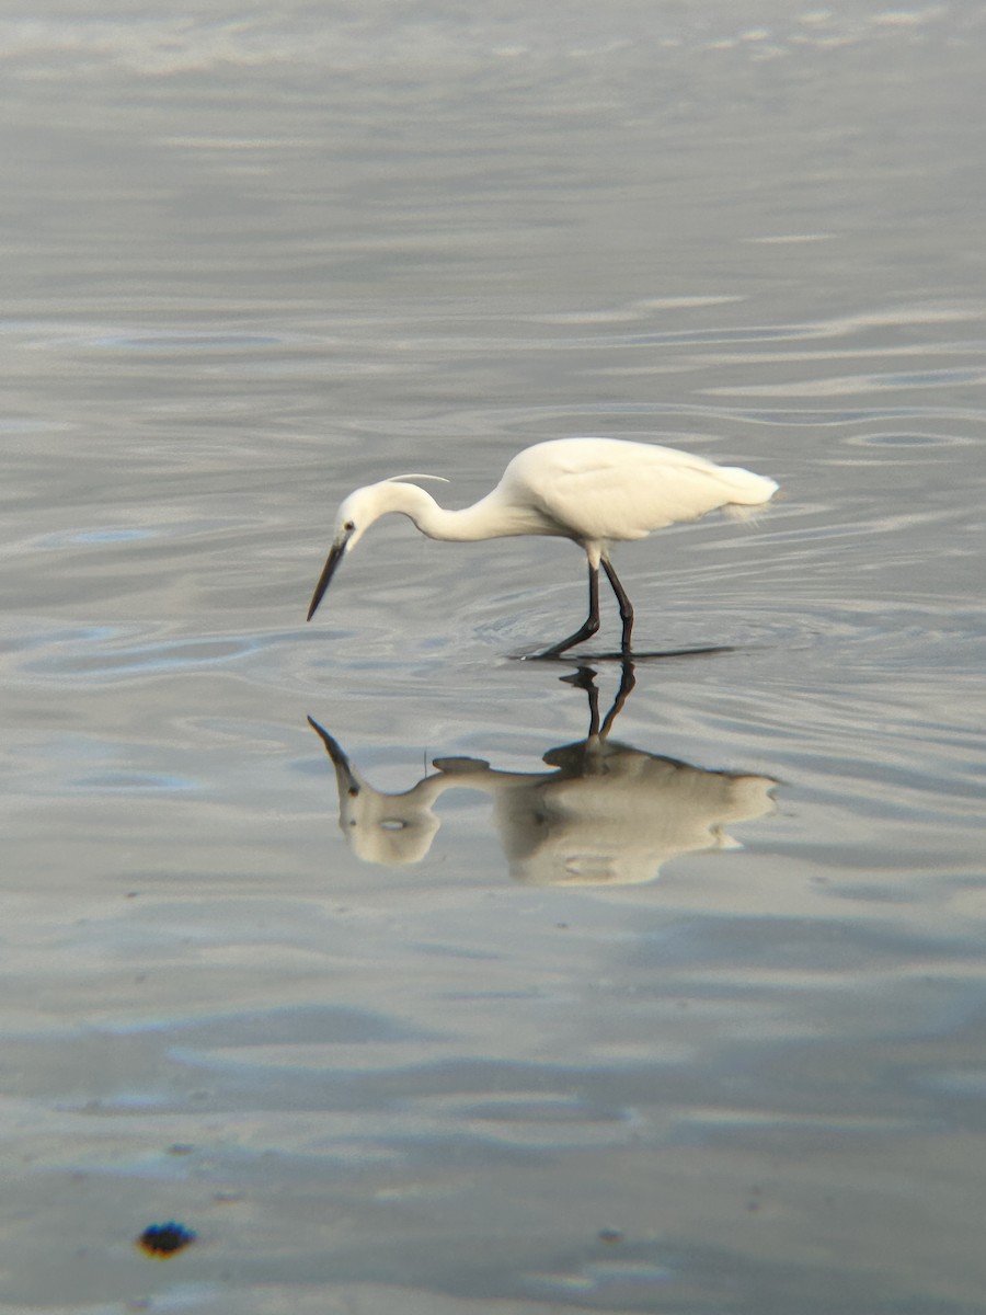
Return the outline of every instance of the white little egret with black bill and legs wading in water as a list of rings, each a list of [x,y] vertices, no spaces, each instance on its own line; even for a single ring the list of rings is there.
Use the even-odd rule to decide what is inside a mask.
[[[582,626],[539,658],[556,658],[599,629],[599,567],[606,572],[623,622],[621,651],[630,652],[634,609],[610,562],[614,540],[644,539],[680,521],[718,509],[741,510],[769,502],[774,480],[739,466],[716,466],[703,456],[653,443],[618,438],[557,438],[527,447],[509,463],[500,484],[479,502],[450,512],[394,475],[356,489],[343,501],[322,575],[308,609],[310,621],[335,568],[373,521],[400,512],[430,539],[467,543],[517,534],[572,539],[589,560],[589,615]],[[447,483],[447,480],[443,480]]]

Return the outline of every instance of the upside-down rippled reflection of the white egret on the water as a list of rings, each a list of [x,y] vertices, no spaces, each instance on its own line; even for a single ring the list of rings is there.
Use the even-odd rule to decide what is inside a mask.
[[[681,853],[740,848],[724,830],[773,807],[769,776],[713,772],[610,739],[635,684],[623,663],[613,706],[599,715],[596,672],[569,684],[589,698],[589,734],[548,750],[547,772],[500,772],[476,757],[436,757],[434,772],[402,794],[373,789],[338,740],[309,717],[335,768],[339,826],[368,863],[418,863],[439,828],[434,806],[446,790],[490,796],[510,876],[526,885],[632,885],[652,881]]]

